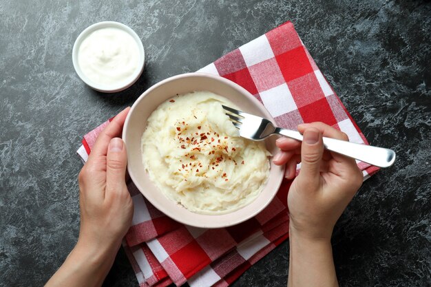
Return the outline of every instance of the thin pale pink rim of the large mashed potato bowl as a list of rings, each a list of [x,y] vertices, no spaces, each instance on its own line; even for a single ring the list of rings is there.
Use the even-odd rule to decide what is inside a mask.
[[[155,85],[149,87],[149,89],[147,89],[145,92],[143,92],[143,94],[141,94],[136,99],[136,101],[132,105],[131,109],[129,110],[129,113],[127,114],[127,117],[126,117],[125,123],[124,123],[124,127],[123,127],[122,138],[125,141],[126,147],[127,147],[127,136],[126,136],[127,127],[129,126],[129,121],[130,121],[131,115],[133,114],[134,109],[136,109],[136,107],[139,105],[140,101],[142,101],[145,98],[145,96],[147,96],[147,94],[151,93],[154,89],[157,89],[158,87],[160,87],[162,85],[165,85],[165,83],[168,83],[169,81],[174,81],[174,80],[178,80],[180,78],[187,78],[187,77],[193,77],[193,76],[213,78],[216,81],[222,81],[223,83],[225,83],[227,85],[231,85],[231,87],[233,87],[234,89],[238,89],[239,92],[241,92],[242,94],[244,94],[244,96],[249,98],[255,105],[260,106],[260,110],[264,113],[264,116],[266,118],[268,118],[269,120],[271,120],[272,122],[274,122],[273,117],[271,116],[271,114],[269,114],[269,111],[264,107],[264,105],[262,105],[262,103],[260,103],[260,101],[257,100],[257,98],[255,98],[249,91],[247,91],[246,89],[244,89],[244,87],[241,87],[237,83],[230,81],[227,78],[223,78],[222,76],[217,76],[217,75],[209,74],[206,72],[192,72],[192,73],[178,74],[176,76],[171,76],[169,78],[166,78],[165,80],[162,80],[162,81],[156,83]],[[127,152],[127,160],[129,160],[129,153],[128,152]],[[277,191],[280,189],[280,186],[282,184],[282,180],[284,178],[284,169],[285,169],[284,166],[281,167],[280,176],[277,178],[277,182],[274,182],[275,186],[277,187]],[[132,181],[137,182],[136,181],[137,180],[136,175],[134,174],[133,171],[131,171],[129,169],[129,165],[127,165],[127,171],[129,173],[129,176],[132,179]],[[266,199],[265,202],[262,202],[262,204],[260,204],[259,208],[255,209],[252,213],[249,213],[247,216],[244,216],[242,218],[234,218],[232,220],[229,220],[229,223],[227,223],[227,222],[224,222],[222,224],[220,224],[220,223],[207,223],[207,224],[201,225],[201,224],[195,224],[193,222],[189,222],[187,220],[182,220],[182,218],[175,217],[175,213],[172,213],[169,209],[165,208],[165,206],[163,206],[162,204],[159,204],[156,200],[151,199],[151,197],[145,196],[145,192],[141,191],[139,184],[135,184],[135,185],[136,185],[136,188],[140,191],[140,194],[142,194],[151,204],[153,204],[153,206],[156,207],[156,209],[158,209],[159,211],[161,211],[162,213],[164,213],[165,215],[167,215],[171,219],[176,220],[177,222],[180,222],[182,224],[186,224],[188,226],[195,226],[198,228],[224,228],[224,227],[229,227],[229,226],[240,224],[246,220],[251,219],[255,215],[259,214],[261,211],[263,211],[266,208],[266,206],[268,206],[273,201],[275,196],[277,195],[277,191],[275,191],[270,197],[268,197]],[[168,198],[168,200],[169,200],[169,198]],[[257,198],[255,200],[257,200]],[[249,205],[249,204],[247,204],[247,205]],[[232,213],[235,213],[235,211],[232,211]],[[195,214],[201,215],[200,213],[195,213]],[[225,214],[231,214],[231,213],[225,213]]]

